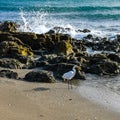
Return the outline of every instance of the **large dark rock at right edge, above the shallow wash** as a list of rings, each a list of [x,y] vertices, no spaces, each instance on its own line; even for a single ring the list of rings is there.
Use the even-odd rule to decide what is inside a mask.
[[[114,75],[120,73],[120,67],[117,62],[99,54],[91,57],[85,72],[98,75]]]

